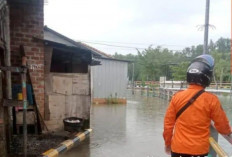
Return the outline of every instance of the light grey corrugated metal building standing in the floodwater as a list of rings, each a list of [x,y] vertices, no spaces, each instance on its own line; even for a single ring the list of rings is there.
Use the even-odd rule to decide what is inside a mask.
[[[126,104],[128,61],[99,58],[101,66],[92,67],[93,102]]]

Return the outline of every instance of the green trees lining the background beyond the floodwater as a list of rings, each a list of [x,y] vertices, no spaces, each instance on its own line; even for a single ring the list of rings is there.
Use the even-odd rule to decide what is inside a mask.
[[[230,47],[231,40],[220,38],[209,43],[209,54],[215,59],[214,81],[218,83],[230,82]],[[158,81],[161,76],[167,80],[185,80],[190,61],[203,52],[203,45],[186,47],[182,51],[173,51],[160,46],[151,46],[137,55],[114,54],[114,58],[126,59],[134,62],[134,80]],[[129,80],[132,80],[133,64],[129,65]]]

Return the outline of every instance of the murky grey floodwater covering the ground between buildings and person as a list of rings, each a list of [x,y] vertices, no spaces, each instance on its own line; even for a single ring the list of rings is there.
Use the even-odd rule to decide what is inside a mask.
[[[93,105],[90,138],[62,157],[167,157],[162,132],[168,101],[130,93],[127,105]],[[219,98],[232,122],[231,96]],[[232,155],[232,145],[222,137],[219,143]]]

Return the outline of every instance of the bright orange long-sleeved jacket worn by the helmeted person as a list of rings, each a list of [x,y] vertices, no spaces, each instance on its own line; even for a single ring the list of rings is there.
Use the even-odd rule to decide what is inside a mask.
[[[189,85],[177,92],[166,111],[163,137],[166,146],[183,154],[206,154],[209,152],[211,120],[219,133],[230,134],[229,121],[217,96],[204,92],[176,120],[177,112],[201,89],[199,85]]]

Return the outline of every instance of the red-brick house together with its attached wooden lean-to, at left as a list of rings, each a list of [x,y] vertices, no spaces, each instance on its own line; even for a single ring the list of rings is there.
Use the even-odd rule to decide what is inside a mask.
[[[88,49],[44,39],[43,8],[43,0],[0,0],[2,157],[7,156],[12,134],[30,131],[31,122],[55,131],[63,129],[63,118],[78,116],[85,120],[83,128],[89,127],[90,65],[99,62]],[[27,65],[22,66],[25,60]],[[22,81],[24,76],[26,82]],[[21,94],[25,85],[31,87],[27,95],[32,98],[27,97],[26,103]],[[16,87],[18,92],[14,93]],[[22,124],[24,112],[26,128]]]

